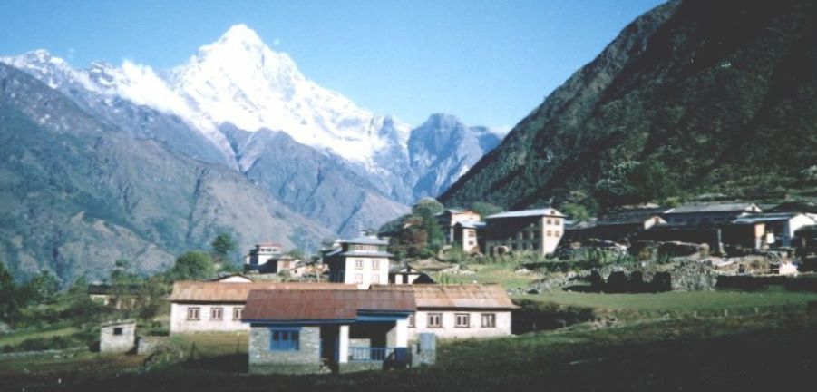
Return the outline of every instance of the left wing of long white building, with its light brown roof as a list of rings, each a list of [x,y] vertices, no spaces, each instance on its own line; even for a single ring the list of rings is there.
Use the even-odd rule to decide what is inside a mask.
[[[241,322],[252,289],[355,289],[335,283],[276,283],[193,281],[173,284],[170,293],[170,334],[247,331]]]

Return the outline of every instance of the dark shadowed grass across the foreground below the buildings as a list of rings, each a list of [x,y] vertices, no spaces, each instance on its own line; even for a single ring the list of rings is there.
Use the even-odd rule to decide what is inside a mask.
[[[349,375],[250,376],[208,359],[140,373],[135,356],[83,354],[28,361],[7,372],[0,389],[218,391],[261,390],[785,390],[813,385],[817,313],[804,310],[721,319],[653,320],[620,328],[563,329],[513,338],[465,339],[438,346],[430,368]],[[197,337],[197,344],[226,343]],[[191,342],[190,340],[186,342]],[[246,357],[245,357],[246,358]],[[19,365],[19,364],[18,364]],[[48,369],[40,373],[42,368]],[[134,367],[136,365],[133,365]],[[34,376],[36,373],[36,376]]]

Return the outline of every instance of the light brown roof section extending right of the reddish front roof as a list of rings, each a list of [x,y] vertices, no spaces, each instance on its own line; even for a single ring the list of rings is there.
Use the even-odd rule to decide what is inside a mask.
[[[500,285],[372,285],[374,291],[411,291],[417,308],[517,309]]]

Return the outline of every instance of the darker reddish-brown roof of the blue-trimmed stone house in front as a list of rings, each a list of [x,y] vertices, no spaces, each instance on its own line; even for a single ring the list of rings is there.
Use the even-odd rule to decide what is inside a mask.
[[[252,290],[244,320],[337,320],[356,319],[359,311],[413,312],[410,292],[376,292],[359,289]]]

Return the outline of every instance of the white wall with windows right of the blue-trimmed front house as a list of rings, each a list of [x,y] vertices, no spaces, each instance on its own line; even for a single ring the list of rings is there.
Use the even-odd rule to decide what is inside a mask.
[[[428,314],[442,313],[443,327],[429,328]],[[467,313],[470,315],[469,328],[456,327],[456,315]],[[496,315],[496,327],[483,328],[481,326],[483,313],[493,313]],[[490,338],[511,336],[511,311],[468,311],[468,310],[417,310],[414,315],[414,327],[408,328],[409,340],[416,340],[417,335],[424,332],[430,332],[437,336],[437,338]]]

